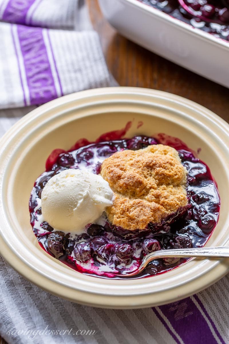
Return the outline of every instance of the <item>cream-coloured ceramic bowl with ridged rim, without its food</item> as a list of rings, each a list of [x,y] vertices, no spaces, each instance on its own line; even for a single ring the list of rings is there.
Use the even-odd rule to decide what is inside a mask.
[[[55,148],[79,138],[132,126],[127,137],[164,132],[197,151],[210,167],[221,197],[217,227],[207,246],[229,245],[229,125],[190,100],[160,91],[114,87],[71,94],[17,122],[0,141],[0,254],[37,286],[75,302],[108,308],[169,303],[209,286],[229,270],[228,260],[191,259],[158,276],[113,280],[86,276],[49,256],[30,226],[28,200],[34,181]],[[139,121],[143,125],[139,128]]]

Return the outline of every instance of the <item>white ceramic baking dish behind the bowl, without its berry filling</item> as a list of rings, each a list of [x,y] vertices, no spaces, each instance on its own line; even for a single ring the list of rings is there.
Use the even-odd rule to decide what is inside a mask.
[[[110,24],[131,41],[229,87],[229,42],[137,0],[99,3]]]

